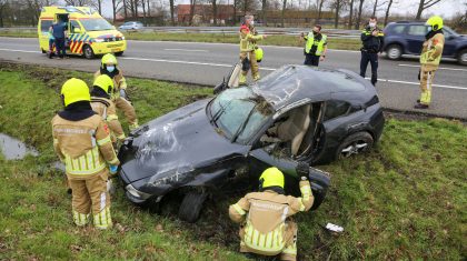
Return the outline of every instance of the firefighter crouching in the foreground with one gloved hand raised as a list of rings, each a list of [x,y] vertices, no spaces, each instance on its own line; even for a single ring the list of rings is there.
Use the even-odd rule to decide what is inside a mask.
[[[297,173],[301,179],[301,198],[285,195],[284,174],[272,167],[259,178],[259,192],[248,193],[230,205],[230,219],[241,223],[240,252],[280,254],[281,260],[296,260],[297,224],[288,218],[308,211],[315,200],[308,181],[308,164],[299,163]]]

